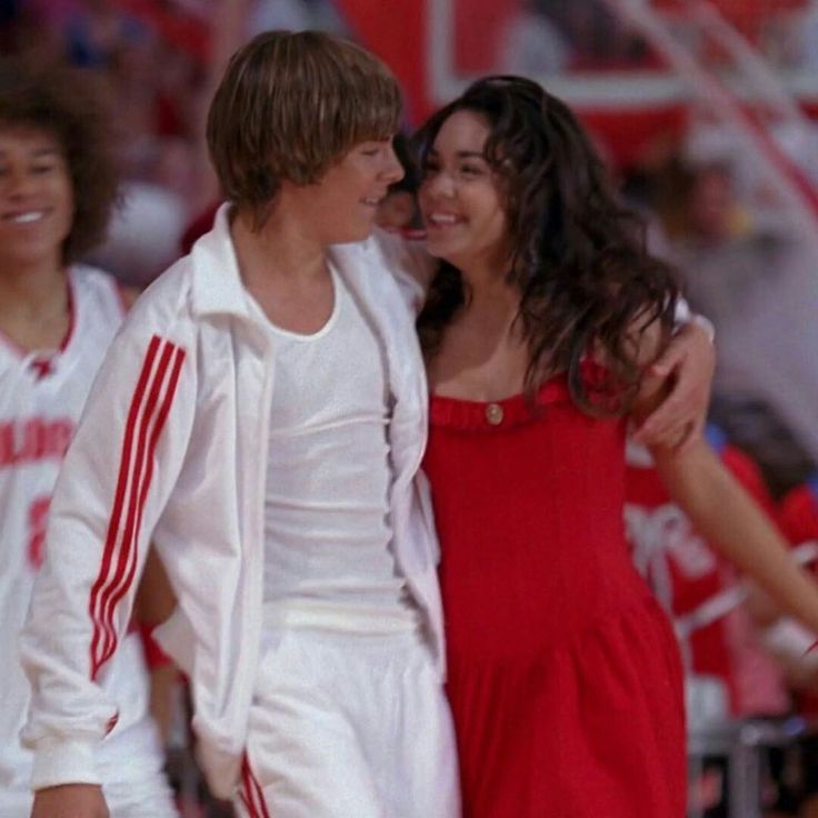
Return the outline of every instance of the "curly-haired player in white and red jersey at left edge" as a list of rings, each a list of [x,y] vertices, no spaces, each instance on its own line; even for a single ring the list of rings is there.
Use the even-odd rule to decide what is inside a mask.
[[[87,73],[0,61],[3,818],[28,818],[32,809],[34,756],[20,744],[31,689],[18,639],[46,556],[51,492],[102,357],[134,295],[80,262],[102,239],[117,200],[119,170],[108,123],[108,109]],[[70,561],[54,566],[63,581]],[[160,570],[152,562],[151,576]],[[159,602],[154,585],[143,589],[140,601]],[[123,641],[104,689],[120,707],[96,758],[112,815],[176,816],[164,752],[148,712],[149,678],[137,632]]]

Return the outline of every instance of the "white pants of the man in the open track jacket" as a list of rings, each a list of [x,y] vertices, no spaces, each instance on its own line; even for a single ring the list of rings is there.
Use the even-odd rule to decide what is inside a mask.
[[[260,664],[237,809],[458,818],[451,717],[419,637],[286,631]]]

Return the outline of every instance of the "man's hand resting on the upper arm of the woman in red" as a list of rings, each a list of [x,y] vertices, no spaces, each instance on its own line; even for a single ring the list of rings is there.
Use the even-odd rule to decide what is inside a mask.
[[[696,322],[686,325],[646,379],[665,381],[668,396],[635,431],[646,446],[684,448],[705,427],[716,353],[710,333]]]

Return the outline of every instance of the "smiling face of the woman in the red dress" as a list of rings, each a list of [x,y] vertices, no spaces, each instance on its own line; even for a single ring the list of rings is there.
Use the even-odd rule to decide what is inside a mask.
[[[502,181],[486,161],[486,119],[457,111],[438,131],[423,168],[420,211],[428,249],[461,270],[501,266],[509,237]]]

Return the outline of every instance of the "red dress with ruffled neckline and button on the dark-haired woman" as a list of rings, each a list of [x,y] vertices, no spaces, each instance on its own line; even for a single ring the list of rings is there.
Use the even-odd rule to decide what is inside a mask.
[[[435,397],[465,818],[684,818],[682,672],[625,542],[625,429],[546,383],[535,413]]]

